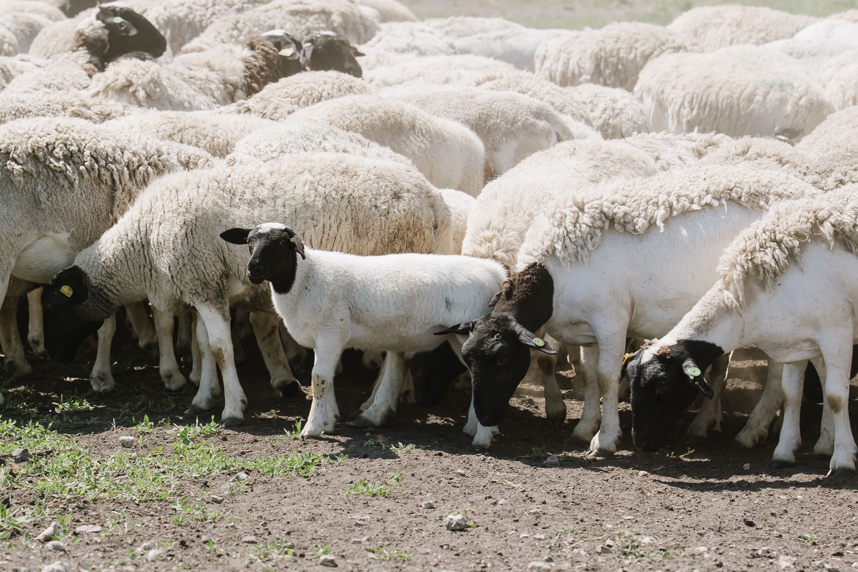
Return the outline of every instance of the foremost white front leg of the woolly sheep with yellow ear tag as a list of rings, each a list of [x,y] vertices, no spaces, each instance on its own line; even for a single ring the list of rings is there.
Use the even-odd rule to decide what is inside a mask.
[[[223,376],[223,394],[226,405],[221,413],[221,424],[224,427],[234,427],[245,422],[245,406],[247,397],[239,382],[239,373],[235,370],[233,360],[233,338],[230,333],[229,321],[221,315],[214,306],[199,304],[196,306],[202,322],[208,333],[208,346],[211,347],[218,367]]]

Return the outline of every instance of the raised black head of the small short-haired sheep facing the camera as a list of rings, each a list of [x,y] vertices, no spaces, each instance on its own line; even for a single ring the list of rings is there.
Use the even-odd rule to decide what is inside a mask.
[[[299,234],[279,222],[267,222],[251,228],[231,228],[221,232],[230,244],[248,244],[251,259],[247,277],[253,284],[268,280],[274,291],[285,294],[295,281],[298,255],[305,258],[304,241]]]

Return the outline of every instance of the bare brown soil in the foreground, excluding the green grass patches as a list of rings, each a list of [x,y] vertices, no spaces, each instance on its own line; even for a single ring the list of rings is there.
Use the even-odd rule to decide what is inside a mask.
[[[80,431],[78,439],[94,454],[115,453],[118,436],[129,434],[127,428],[133,422],[116,413],[125,411],[128,415],[128,401],[145,404],[152,400],[157,404],[169,393],[159,380],[156,362],[139,350],[127,349],[128,342],[115,340],[114,355],[131,358],[136,366],[133,373],[118,377],[114,394],[89,394],[88,400],[96,406],[92,423],[76,430]],[[795,558],[795,568],[789,570],[827,564],[845,571],[858,561],[858,478],[827,480],[827,461],[813,459],[819,405],[806,404],[803,408],[805,444],[796,456],[798,465],[791,469],[765,471],[775,443],[764,443],[752,451],[733,449],[732,437],[745,417],[729,414],[722,434],[716,434],[702,449],[690,451],[675,445],[657,454],[644,454],[633,449],[630,436],[624,434],[616,456],[588,459],[583,446],[565,443],[583,404],[577,400],[581,398],[571,377],[573,372],[561,359],[559,364],[565,368],[560,367],[559,373],[569,409],[562,430],[547,427],[543,401],[533,395],[539,392],[526,385],[522,396],[513,400],[501,433],[486,455],[470,449],[470,438],[462,435],[469,398],[467,391],[461,390],[448,394],[442,406],[432,411],[403,405],[396,418],[372,432],[340,424],[331,437],[306,442],[281,440],[272,445],[269,437],[282,435],[284,429],[306,417],[310,400],[276,400],[257,347],[252,340],[245,340],[244,346],[247,358],[239,366],[239,376],[250,402],[245,412],[247,424],[237,431],[221,430],[213,440],[236,457],[304,451],[348,455],[347,461],[308,479],[269,478],[251,472],[245,492],[226,495],[217,507],[240,520],[170,524],[174,497],[221,491],[233,474],[181,481],[173,497],[164,501],[136,505],[95,500],[57,507],[61,513],[68,511],[76,526],[104,523],[124,510],[134,519],[135,527],[128,534],[113,532],[103,538],[81,533],[78,541],[67,543],[63,554],[41,545],[0,549],[0,569],[34,572],[57,560],[72,572],[114,567],[259,569],[259,563],[242,553],[249,546],[243,543],[247,536],[254,536],[259,543],[286,540],[293,544],[296,556],[264,563],[263,568],[273,570],[322,569],[312,550],[325,545],[330,546],[338,568],[379,572],[524,570],[534,562],[558,570],[780,569],[774,567],[781,556]],[[77,372],[71,375],[81,375],[88,367],[86,362],[93,358],[94,352],[87,350],[73,364],[39,362],[30,382],[44,392],[45,403],[61,393],[84,393],[88,380],[64,376],[70,371]],[[347,354],[344,364],[345,373],[336,380],[336,392],[341,410],[348,412],[366,399],[372,375],[362,369],[355,354]],[[306,376],[305,372],[305,384]],[[171,423],[193,422],[181,412],[192,395],[190,388],[172,394],[178,406],[170,414]],[[620,418],[627,431],[631,412],[628,404],[621,405]],[[854,399],[850,401],[853,419],[856,405]],[[136,412],[138,421],[143,412],[153,421],[164,416],[142,406]],[[110,423],[113,416],[116,431]],[[9,415],[4,413],[4,417]],[[678,436],[691,419],[692,414],[687,414]],[[145,448],[169,446],[174,440],[160,428],[148,436]],[[387,447],[380,448],[379,442]],[[414,443],[416,448],[396,453],[389,449],[396,443]],[[546,455],[565,456],[561,456],[559,467],[546,468],[542,466]],[[750,468],[743,468],[746,464]],[[403,477],[388,497],[343,495],[358,479],[384,482],[396,472]],[[25,508],[35,495],[21,488],[7,488],[4,497],[7,494],[4,503]],[[424,501],[432,501],[436,508],[423,509]],[[439,517],[462,509],[467,509],[465,514],[473,526],[464,532],[448,531]],[[27,532],[32,537],[44,527],[45,522],[41,522]],[[637,539],[650,537],[649,543],[638,543],[640,550],[632,551],[631,556],[629,551],[624,554],[620,550],[619,542],[613,551],[602,548],[607,539],[616,539],[617,533],[629,538],[622,536],[629,530],[637,531]],[[145,557],[129,561],[131,547],[156,539],[176,544],[166,557],[155,562],[149,563]],[[207,547],[209,540],[214,550]],[[411,559],[378,561],[367,557],[372,547],[391,546]],[[672,554],[660,557],[656,551]],[[650,557],[639,552],[650,553]]]

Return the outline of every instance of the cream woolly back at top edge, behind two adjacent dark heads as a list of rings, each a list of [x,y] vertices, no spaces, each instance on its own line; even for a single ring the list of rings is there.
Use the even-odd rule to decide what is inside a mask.
[[[378,32],[378,17],[376,10],[352,0],[274,0],[213,22],[184,45],[182,53],[242,42],[250,36],[278,28],[299,40],[312,33],[330,30],[358,45],[369,41]]]

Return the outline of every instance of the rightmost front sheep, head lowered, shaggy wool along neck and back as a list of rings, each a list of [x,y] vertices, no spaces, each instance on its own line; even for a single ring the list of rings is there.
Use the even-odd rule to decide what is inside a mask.
[[[852,318],[858,301],[856,229],[855,188],[844,188],[782,202],[741,232],[723,252],[715,286],[668,334],[629,360],[635,444],[646,451],[660,448],[698,389],[710,394],[700,370],[752,344],[784,364],[783,425],[769,468],[795,465],[801,385],[810,360],[825,391],[814,454],[831,456],[832,478],[855,474],[858,450],[846,404],[858,332]]]

